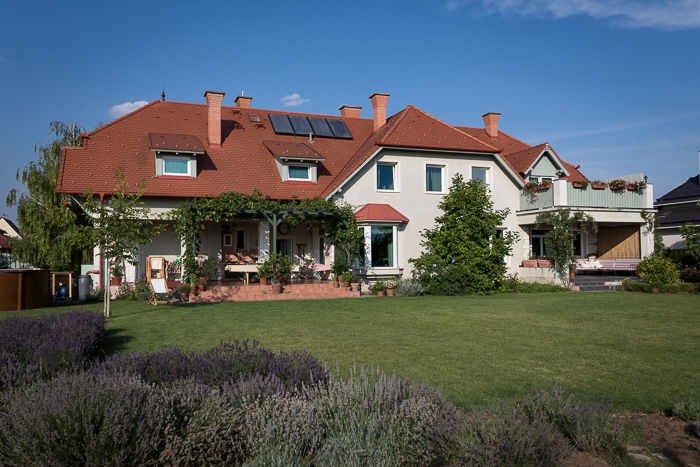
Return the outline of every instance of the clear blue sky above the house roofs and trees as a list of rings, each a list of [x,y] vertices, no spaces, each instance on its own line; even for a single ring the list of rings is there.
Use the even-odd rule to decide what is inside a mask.
[[[2,3],[0,213],[53,120],[92,129],[159,98],[241,90],[336,114],[391,94],[450,123],[549,141],[589,178],[698,171],[700,0]],[[283,100],[287,97],[286,100]],[[290,105],[291,104],[291,105]],[[120,106],[120,107],[117,107]],[[116,113],[115,113],[116,112]]]

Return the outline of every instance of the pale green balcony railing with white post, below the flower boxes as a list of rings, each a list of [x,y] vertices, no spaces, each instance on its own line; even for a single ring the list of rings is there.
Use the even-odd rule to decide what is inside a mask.
[[[627,189],[614,192],[609,187],[593,189],[574,188],[566,180],[556,180],[550,188],[533,193],[521,192],[520,210],[547,209],[551,207],[583,207],[610,209],[653,209],[653,186],[647,184],[639,191]]]

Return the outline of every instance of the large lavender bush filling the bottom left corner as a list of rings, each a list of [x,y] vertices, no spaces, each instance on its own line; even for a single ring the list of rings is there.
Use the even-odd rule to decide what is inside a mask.
[[[3,398],[0,465],[147,465],[162,449],[168,407],[138,378],[66,373]]]

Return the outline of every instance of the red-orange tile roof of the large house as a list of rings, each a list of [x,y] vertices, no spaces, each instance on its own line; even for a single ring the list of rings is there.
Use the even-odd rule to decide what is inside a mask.
[[[109,192],[115,185],[114,171],[122,168],[130,186],[135,188],[140,181],[146,182],[146,196],[218,196],[227,191],[260,190],[278,199],[311,198],[328,196],[382,145],[500,153],[519,175],[527,168],[523,167],[526,158],[511,155],[531,148],[503,132],[491,139],[483,128],[448,125],[413,106],[390,117],[376,132],[372,119],[368,118],[273,112],[343,120],[353,136],[352,139],[316,138],[313,143],[308,143],[308,136],[275,134],[269,113],[223,106],[222,144],[211,147],[202,144],[208,140],[206,104],[151,102],[90,132],[83,147],[65,148],[57,190]],[[252,122],[250,114],[259,115],[261,121]],[[189,147],[199,144],[205,151],[197,156],[197,177],[156,177],[152,148],[173,146],[178,138]],[[322,156],[318,183],[282,182],[270,157],[271,151]],[[555,157],[559,156],[555,154]],[[585,180],[573,166],[563,163],[572,173],[571,179]]]

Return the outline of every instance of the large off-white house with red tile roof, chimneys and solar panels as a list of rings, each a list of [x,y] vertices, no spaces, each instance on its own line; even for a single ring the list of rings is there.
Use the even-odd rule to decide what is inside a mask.
[[[579,166],[548,143],[530,146],[499,130],[498,113],[483,115],[483,127],[464,127],[413,106],[387,118],[388,94],[370,96],[372,118],[347,105],[340,116],[311,115],[250,108],[252,98],[245,96],[235,107],[222,106],[223,97],[207,91],[206,104],[154,101],[83,135],[81,147],[64,150],[58,191],[108,194],[114,170],[123,168],[127,182],[146,182],[144,199],[156,213],[188,197],[256,189],[276,199],[343,200],[356,208],[364,230],[367,275],[397,276],[410,273],[409,259],[421,254],[421,231],[433,227],[438,203],[459,173],[486,183],[496,209],[510,209],[501,230],[520,235],[506,258],[510,272],[546,275],[521,262],[546,255],[547,232],[535,218],[559,207],[584,210],[600,223],[597,234],[579,234],[578,255],[640,258],[651,251],[641,217],[652,209],[651,185],[622,193],[574,188],[572,182],[587,181]],[[528,181],[551,186],[525,193]],[[224,262],[255,261],[271,247],[265,219],[210,222],[201,238],[200,253]],[[295,259],[332,263],[320,224],[283,224],[274,247]],[[141,248],[142,261],[127,268],[127,280],[143,277],[147,256],[172,263],[181,248],[170,226]],[[244,254],[231,260],[237,253]],[[96,268],[98,258],[96,252]]]

